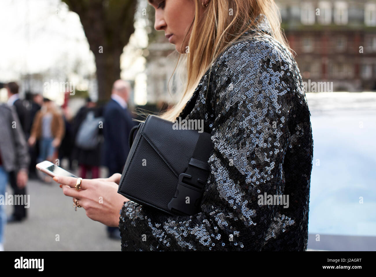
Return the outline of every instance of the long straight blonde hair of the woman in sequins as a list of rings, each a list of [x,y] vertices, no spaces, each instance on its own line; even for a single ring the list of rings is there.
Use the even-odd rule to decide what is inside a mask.
[[[195,15],[197,15],[199,6],[202,4],[201,0],[194,0],[194,2]],[[259,14],[263,14],[269,21],[271,35],[274,39],[291,51],[280,28],[280,13],[274,0],[210,0],[202,15],[195,16],[191,24],[192,32],[188,41],[189,52],[186,53],[188,76],[185,91],[176,105],[157,116],[175,121],[192,97],[200,79],[218,56],[235,41],[246,40],[255,35],[244,35],[244,33],[257,24],[256,18]],[[186,45],[184,43],[186,36],[180,53],[183,52],[183,47]],[[145,113],[138,114],[147,115]]]

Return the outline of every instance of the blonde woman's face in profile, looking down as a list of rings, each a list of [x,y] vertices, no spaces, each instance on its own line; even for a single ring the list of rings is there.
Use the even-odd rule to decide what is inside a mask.
[[[155,9],[154,28],[157,31],[164,30],[166,39],[175,44],[175,49],[182,54],[186,53],[188,45],[182,46],[182,43],[186,33],[189,32],[185,44],[188,44],[190,38],[194,0],[149,0],[149,3]]]

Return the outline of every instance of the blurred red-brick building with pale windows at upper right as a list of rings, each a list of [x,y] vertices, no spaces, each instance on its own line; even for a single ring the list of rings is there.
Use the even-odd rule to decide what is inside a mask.
[[[375,0],[276,3],[303,81],[334,91],[376,90]]]

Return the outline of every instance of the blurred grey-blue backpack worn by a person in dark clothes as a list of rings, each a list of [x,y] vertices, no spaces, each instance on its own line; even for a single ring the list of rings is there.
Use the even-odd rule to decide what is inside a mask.
[[[95,149],[99,143],[100,123],[103,123],[103,117],[95,117],[94,111],[89,111],[78,128],[76,146],[85,150]]]

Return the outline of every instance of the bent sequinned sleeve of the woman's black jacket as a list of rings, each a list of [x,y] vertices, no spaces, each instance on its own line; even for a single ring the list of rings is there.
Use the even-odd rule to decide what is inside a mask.
[[[268,43],[232,47],[217,59],[208,99],[215,120],[202,212],[165,216],[125,202],[122,249],[130,244],[149,250],[262,249],[277,209],[259,204],[258,196],[284,191],[291,91],[282,75],[290,69]]]

